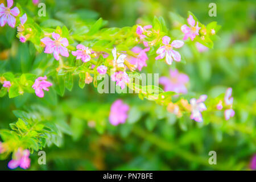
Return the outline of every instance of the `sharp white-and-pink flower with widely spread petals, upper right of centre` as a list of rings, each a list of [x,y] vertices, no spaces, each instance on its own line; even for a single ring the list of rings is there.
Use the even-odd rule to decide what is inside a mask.
[[[156,60],[158,59],[163,59],[164,56],[166,56],[166,62],[167,64],[172,64],[172,57],[174,58],[175,61],[180,61],[181,60],[181,56],[180,53],[177,51],[174,51],[174,48],[180,48],[183,46],[184,42],[181,40],[174,40],[171,44],[170,40],[171,38],[168,36],[164,36],[163,37],[163,44],[165,46],[161,46],[158,48],[158,50],[156,51],[157,54],[159,54],[158,56],[156,56]]]

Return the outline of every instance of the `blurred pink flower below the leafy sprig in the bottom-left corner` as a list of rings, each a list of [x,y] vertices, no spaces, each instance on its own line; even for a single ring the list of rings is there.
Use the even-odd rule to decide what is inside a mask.
[[[17,167],[28,169],[30,167],[30,151],[22,150],[21,148],[14,154],[14,159],[10,160],[8,167],[10,169],[15,169]]]

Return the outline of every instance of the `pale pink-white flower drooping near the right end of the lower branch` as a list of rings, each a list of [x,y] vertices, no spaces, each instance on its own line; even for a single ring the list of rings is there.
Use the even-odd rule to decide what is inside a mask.
[[[198,100],[192,98],[190,100],[191,104],[191,119],[194,119],[196,122],[203,122],[201,112],[207,110],[207,107],[203,103],[207,99],[207,95],[201,95]]]

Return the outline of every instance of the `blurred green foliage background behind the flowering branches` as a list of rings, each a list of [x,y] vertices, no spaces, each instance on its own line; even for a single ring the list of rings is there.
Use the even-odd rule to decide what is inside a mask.
[[[32,170],[246,170],[256,153],[256,64],[255,1],[42,1],[47,16],[36,15],[37,7],[18,1],[35,15],[40,26],[54,24],[71,29],[73,23],[88,24],[102,17],[106,27],[151,24],[154,16],[163,16],[168,28],[174,22],[170,11],[187,17],[192,11],[201,23],[212,21],[222,26],[214,48],[199,53],[184,46],[186,64],[175,66],[190,80],[188,97],[196,93],[217,97],[233,88],[236,115],[229,121],[223,116],[198,125],[188,117],[177,119],[166,108],[142,101],[136,94],[99,94],[93,85],[84,89],[78,78],[72,92],[64,97],[39,100],[32,94],[14,99],[0,98],[0,127],[9,129],[15,122],[15,109],[40,110],[59,123],[64,132],[56,145],[44,148],[47,164],[39,165],[36,152],[31,155]],[[217,5],[217,16],[208,15],[209,3]],[[29,56],[15,37],[16,30],[0,28],[0,69],[22,72],[20,56]],[[175,32],[170,32],[175,34]],[[27,52],[22,54],[21,52]],[[36,60],[37,56],[34,56]],[[31,64],[36,61],[31,60]],[[142,72],[167,76],[170,66],[153,59]],[[5,67],[6,69],[6,67]],[[31,68],[32,69],[32,68]],[[129,118],[123,125],[109,124],[113,101],[121,98],[130,105]],[[211,117],[214,117],[211,115]],[[208,152],[217,152],[217,165],[209,165]],[[0,169],[8,169],[0,161]]]

